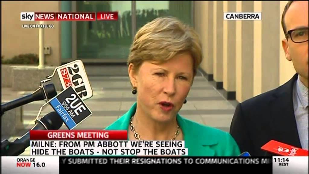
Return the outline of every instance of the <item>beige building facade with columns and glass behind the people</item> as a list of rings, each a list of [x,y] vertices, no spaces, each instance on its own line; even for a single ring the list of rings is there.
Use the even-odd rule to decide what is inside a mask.
[[[201,72],[242,102],[274,89],[295,73],[285,59],[281,14],[287,1],[2,1],[2,55],[39,54],[39,29],[22,28],[20,12],[118,11],[117,21],[46,21],[48,65],[75,59],[125,63],[136,31],[159,16],[174,16],[199,33]],[[223,20],[223,12],[261,12],[262,20]],[[37,22],[32,22],[37,23]]]

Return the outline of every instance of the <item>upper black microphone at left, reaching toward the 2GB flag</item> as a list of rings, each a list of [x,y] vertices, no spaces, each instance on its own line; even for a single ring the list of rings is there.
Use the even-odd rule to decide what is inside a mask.
[[[46,94],[46,97],[45,97]],[[1,105],[1,115],[8,110],[20,107],[22,105],[28,104],[33,101],[45,100],[53,98],[57,95],[55,85],[48,84],[41,86],[39,89],[34,91],[32,94],[26,95],[24,97],[15,99],[11,102],[6,102]]]

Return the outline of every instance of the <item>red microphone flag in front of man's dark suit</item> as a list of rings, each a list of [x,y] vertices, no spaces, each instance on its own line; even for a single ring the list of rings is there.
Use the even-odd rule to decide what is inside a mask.
[[[275,140],[270,140],[262,146],[261,149],[282,156],[308,156],[308,150],[300,149]]]

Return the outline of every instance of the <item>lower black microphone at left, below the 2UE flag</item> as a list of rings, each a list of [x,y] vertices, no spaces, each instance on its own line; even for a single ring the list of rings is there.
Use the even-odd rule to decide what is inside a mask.
[[[30,130],[58,130],[63,122],[56,112],[50,112],[44,115]],[[30,146],[30,131],[14,142],[4,140],[1,142],[1,156],[18,156]]]

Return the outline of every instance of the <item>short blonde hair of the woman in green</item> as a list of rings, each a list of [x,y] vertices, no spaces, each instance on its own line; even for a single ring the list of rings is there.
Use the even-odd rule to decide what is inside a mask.
[[[197,33],[174,17],[159,17],[138,30],[130,48],[128,65],[138,72],[144,61],[163,63],[177,54],[188,52],[193,58],[193,77],[202,61]]]

